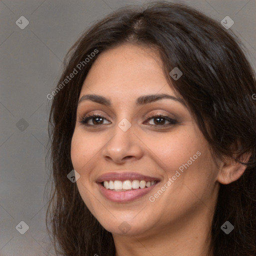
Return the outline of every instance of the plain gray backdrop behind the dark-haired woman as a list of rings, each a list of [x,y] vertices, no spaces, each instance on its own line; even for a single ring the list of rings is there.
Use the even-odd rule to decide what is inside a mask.
[[[46,95],[57,85],[67,49],[93,21],[123,5],[142,2],[0,0],[0,256],[46,255],[51,247],[43,196],[51,103]],[[230,29],[244,43],[255,69],[255,0],[182,2],[219,22],[230,16]],[[29,21],[24,29],[15,23],[20,16]],[[29,226],[24,234],[15,228],[20,221]]]

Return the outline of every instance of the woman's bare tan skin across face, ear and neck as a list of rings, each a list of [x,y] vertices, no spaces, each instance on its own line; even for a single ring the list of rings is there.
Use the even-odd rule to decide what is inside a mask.
[[[165,98],[135,105],[141,95],[161,93],[180,98],[168,84],[156,51],[122,44],[100,53],[79,99],[99,94],[109,98],[111,106],[91,100],[78,104],[71,142],[72,164],[80,174],[76,184],[89,210],[112,233],[116,256],[213,255],[209,233],[219,182],[236,180],[244,167],[231,159],[214,161],[208,142],[182,103]],[[91,125],[86,126],[79,121],[88,113],[105,119],[98,127],[90,119]],[[168,125],[163,119],[164,125],[158,124],[155,118],[147,118],[149,114],[163,114],[177,123]],[[118,127],[123,118],[131,123],[127,131]],[[201,155],[158,198],[149,201],[197,151]],[[158,177],[160,182],[140,198],[112,202],[95,183],[99,175],[110,171],[134,171]],[[126,233],[119,228],[123,221],[130,227]]]

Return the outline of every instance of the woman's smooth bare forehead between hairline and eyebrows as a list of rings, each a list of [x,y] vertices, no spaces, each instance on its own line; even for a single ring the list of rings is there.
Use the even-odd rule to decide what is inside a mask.
[[[99,54],[81,89],[109,97],[135,97],[148,93],[170,93],[158,52],[149,47],[123,44]]]

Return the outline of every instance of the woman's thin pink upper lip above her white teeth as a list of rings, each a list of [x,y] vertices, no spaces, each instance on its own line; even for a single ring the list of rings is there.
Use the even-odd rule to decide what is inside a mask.
[[[145,180],[145,181],[152,181],[152,180],[159,181],[159,178],[157,177],[147,176],[147,175],[139,174],[136,172],[107,172],[100,175],[97,178],[96,182],[101,183],[106,180],[124,181],[124,180],[134,180],[134,179]]]

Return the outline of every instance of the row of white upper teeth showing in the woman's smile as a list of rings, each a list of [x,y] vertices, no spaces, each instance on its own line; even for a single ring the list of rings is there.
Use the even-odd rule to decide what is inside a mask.
[[[123,191],[123,190],[131,190],[131,189],[138,189],[138,188],[145,188],[149,187],[151,185],[154,185],[156,183],[155,180],[152,181],[145,181],[145,180],[138,180],[134,179],[132,181],[130,180],[105,180],[103,182],[103,186],[106,189],[114,190],[114,191]]]

